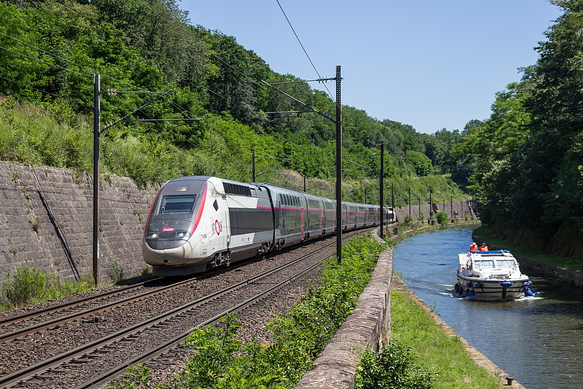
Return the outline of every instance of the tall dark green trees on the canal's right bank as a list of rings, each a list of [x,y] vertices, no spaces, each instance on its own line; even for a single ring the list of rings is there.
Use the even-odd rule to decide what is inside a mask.
[[[583,260],[583,1],[564,13],[540,58],[466,125],[453,152],[473,169],[480,217],[499,236]]]

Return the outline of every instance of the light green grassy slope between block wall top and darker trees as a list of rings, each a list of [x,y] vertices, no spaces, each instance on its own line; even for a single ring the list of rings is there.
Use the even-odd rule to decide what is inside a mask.
[[[111,180],[113,175],[134,178],[139,184],[164,182],[170,178],[197,174],[217,176],[236,181],[251,181],[251,150],[236,140],[240,137],[251,142],[258,155],[274,155],[278,146],[271,135],[255,134],[250,128],[234,121],[214,117],[217,127],[225,133],[209,131],[196,149],[181,149],[163,139],[150,139],[136,132],[127,136],[103,136],[101,139],[101,177]],[[77,171],[91,171],[93,138],[90,118],[72,114],[66,120],[54,110],[33,103],[14,103],[0,96],[0,160],[65,167]],[[311,146],[321,150],[317,146]],[[269,160],[258,159],[257,171],[273,166]],[[288,169],[276,169],[288,170]],[[286,174],[265,174],[258,181],[303,190],[303,176],[289,170]],[[363,179],[343,179],[345,199],[364,202]],[[378,185],[376,180],[368,180]],[[453,195],[465,198],[462,191],[448,176],[385,178],[385,185],[395,183],[395,192],[412,188],[413,193],[428,192],[436,196]],[[310,192],[334,196],[333,178],[307,178]],[[390,195],[390,190],[385,190]],[[437,198],[437,197],[436,197]],[[368,192],[369,202],[378,201],[375,193]],[[385,200],[386,201],[386,200]],[[396,197],[399,204],[401,198]]]

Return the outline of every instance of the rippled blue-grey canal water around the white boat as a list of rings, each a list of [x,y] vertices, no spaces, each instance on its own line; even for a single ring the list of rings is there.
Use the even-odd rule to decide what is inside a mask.
[[[459,299],[458,254],[474,227],[419,234],[396,244],[403,280],[472,346],[529,389],[583,388],[583,291],[532,278],[535,297],[511,302]]]

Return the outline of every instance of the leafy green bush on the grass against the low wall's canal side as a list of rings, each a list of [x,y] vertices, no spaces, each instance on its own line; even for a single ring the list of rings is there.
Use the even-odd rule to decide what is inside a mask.
[[[415,363],[409,348],[398,343],[380,352],[367,350],[356,370],[357,389],[430,389],[431,373]]]

